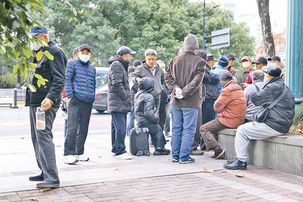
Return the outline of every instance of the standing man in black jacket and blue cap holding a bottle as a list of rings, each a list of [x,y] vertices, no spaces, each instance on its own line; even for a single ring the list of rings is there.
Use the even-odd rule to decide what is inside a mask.
[[[28,82],[35,88],[36,92],[26,89],[25,106],[29,106],[30,110],[30,127],[31,138],[34,145],[36,160],[40,170],[40,175],[29,177],[30,181],[43,181],[38,183],[38,189],[57,188],[60,186],[58,169],[56,165],[55,146],[53,143],[52,127],[59,109],[61,101],[61,92],[65,84],[65,69],[67,65],[67,57],[63,50],[57,46],[54,41],[49,41],[48,30],[45,26],[39,27],[35,25],[30,34],[39,37],[48,46],[41,45],[35,41],[31,43],[31,47],[36,51],[48,51],[54,56],[50,60],[43,55],[41,60],[37,61],[34,57],[33,63],[37,64],[35,71],[28,74]],[[40,85],[39,77],[34,74],[41,75],[48,81],[45,85]],[[45,129],[36,129],[36,110],[38,106],[43,106],[45,111]]]

